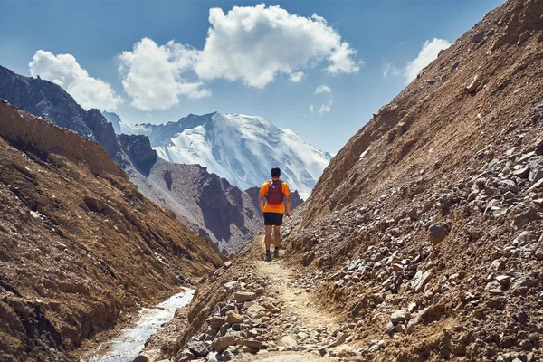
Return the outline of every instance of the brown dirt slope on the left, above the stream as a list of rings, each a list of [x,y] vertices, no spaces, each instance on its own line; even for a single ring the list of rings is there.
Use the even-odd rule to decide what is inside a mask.
[[[66,360],[223,263],[104,148],[0,102],[0,360]]]

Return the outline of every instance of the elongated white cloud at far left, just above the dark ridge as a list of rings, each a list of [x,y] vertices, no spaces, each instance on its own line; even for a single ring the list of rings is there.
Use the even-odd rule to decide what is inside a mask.
[[[39,75],[60,85],[84,109],[116,110],[122,103],[109,83],[90,77],[71,54],[53,55],[39,50],[28,66],[33,77]]]

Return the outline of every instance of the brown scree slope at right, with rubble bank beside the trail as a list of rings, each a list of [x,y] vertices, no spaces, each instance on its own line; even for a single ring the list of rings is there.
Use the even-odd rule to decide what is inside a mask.
[[[362,361],[543,358],[542,90],[543,1],[508,1],[349,140],[283,227],[291,284],[334,312],[330,338],[342,343],[315,351],[298,340],[294,350]],[[265,286],[257,303],[267,298],[270,281],[250,262],[262,257],[256,245],[199,287],[170,350],[176,361],[194,357],[191,337],[234,335],[222,357],[256,353],[243,338],[273,350],[272,310],[239,334],[205,322],[250,308],[232,301],[228,281]]]

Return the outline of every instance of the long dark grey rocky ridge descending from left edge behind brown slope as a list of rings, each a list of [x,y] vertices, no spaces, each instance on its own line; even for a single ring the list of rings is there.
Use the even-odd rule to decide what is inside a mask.
[[[201,202],[214,195],[191,194],[205,190],[205,187],[187,185],[182,173],[172,173],[175,190],[164,187],[162,173],[170,168],[183,167],[157,162],[157,152],[150,148],[147,136],[116,135],[114,129],[119,131],[121,127],[119,116],[109,112],[100,115],[99,110],[83,110],[66,91],[50,81],[24,77],[0,67],[0,99],[8,100],[16,107],[60,127],[74,130],[84,138],[99,142],[125,170],[130,180],[140,187],[139,191],[143,195],[174,210],[179,220],[194,231],[210,237],[223,252],[236,252],[261,227],[256,218],[247,216],[258,213],[247,202],[243,204],[241,200],[246,199],[246,195],[238,196],[242,194],[239,189],[200,167],[185,169],[190,169],[193,175],[199,175],[194,179],[196,183],[205,185],[211,180],[218,180],[219,186],[214,189],[214,193],[220,195],[215,196],[217,199],[228,200],[226,203],[209,205]],[[151,175],[151,172],[157,175]],[[181,188],[182,185],[186,187]],[[213,226],[218,224],[224,224],[224,230]]]

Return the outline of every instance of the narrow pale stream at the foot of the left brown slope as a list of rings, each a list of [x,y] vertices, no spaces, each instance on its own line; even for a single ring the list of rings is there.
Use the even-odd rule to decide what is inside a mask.
[[[121,329],[118,337],[102,343],[88,359],[89,362],[131,362],[143,350],[145,341],[160,329],[163,323],[174,318],[176,309],[186,306],[194,294],[194,290],[185,289],[155,308],[140,310],[136,324]]]

